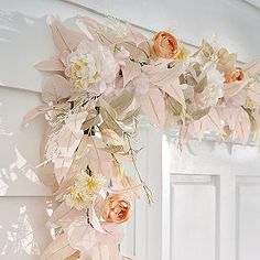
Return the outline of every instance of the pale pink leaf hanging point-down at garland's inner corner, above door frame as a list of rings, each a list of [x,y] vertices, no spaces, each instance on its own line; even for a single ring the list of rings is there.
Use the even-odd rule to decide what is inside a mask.
[[[163,128],[164,115],[165,115],[165,102],[162,93],[156,88],[151,88],[148,94],[141,97],[141,108],[153,122]]]

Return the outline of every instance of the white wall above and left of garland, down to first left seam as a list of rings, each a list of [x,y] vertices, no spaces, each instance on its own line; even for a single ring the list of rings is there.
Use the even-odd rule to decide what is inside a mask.
[[[174,29],[181,40],[194,45],[217,34],[225,46],[239,53],[239,59],[260,56],[260,9],[242,0],[1,0],[0,84],[40,90],[41,77],[32,64],[54,53],[44,15],[100,19],[79,6],[155,31]]]

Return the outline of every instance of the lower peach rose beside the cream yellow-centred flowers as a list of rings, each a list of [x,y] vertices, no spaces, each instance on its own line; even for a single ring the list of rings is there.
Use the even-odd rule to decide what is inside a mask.
[[[124,223],[130,218],[131,204],[120,194],[111,194],[105,199],[102,218],[108,223]]]

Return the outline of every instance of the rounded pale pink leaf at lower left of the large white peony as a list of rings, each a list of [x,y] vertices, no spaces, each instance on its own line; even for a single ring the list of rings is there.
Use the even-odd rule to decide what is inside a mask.
[[[43,82],[42,99],[45,102],[58,101],[68,98],[71,95],[71,84],[59,75],[47,77]]]

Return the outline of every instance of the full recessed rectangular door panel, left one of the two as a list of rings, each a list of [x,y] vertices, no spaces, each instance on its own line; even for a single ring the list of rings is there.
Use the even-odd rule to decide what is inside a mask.
[[[214,176],[171,176],[171,259],[217,259],[216,198]]]

